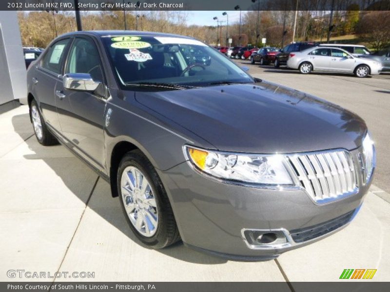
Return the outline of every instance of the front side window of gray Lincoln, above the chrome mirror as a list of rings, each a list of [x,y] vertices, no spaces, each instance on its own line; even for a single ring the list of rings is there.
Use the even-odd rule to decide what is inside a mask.
[[[95,81],[103,82],[98,49],[85,38],[76,38],[70,49],[65,73],[88,73]]]

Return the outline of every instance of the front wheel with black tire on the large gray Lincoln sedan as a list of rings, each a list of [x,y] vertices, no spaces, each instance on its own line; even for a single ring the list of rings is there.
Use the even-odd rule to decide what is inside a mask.
[[[130,151],[122,158],[117,189],[127,223],[142,243],[161,249],[180,239],[164,186],[140,150]]]

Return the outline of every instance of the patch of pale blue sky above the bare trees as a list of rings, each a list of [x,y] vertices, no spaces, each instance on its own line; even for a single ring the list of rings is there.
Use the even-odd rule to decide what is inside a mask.
[[[213,18],[216,16],[218,20],[225,21],[222,25],[226,25],[226,16],[223,16],[224,11],[189,11],[187,17],[187,24],[198,24],[198,25],[210,25],[216,26],[216,20]],[[227,11],[229,15],[229,24],[233,24],[240,20],[239,11]],[[242,12],[241,18],[244,16],[245,11]]]

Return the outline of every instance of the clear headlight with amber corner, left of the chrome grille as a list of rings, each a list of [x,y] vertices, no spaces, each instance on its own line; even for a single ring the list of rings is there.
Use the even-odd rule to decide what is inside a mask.
[[[213,177],[258,184],[293,185],[282,155],[236,154],[185,146],[195,167]]]

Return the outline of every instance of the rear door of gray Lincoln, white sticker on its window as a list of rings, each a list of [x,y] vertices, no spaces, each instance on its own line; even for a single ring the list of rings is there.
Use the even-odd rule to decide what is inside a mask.
[[[37,64],[33,77],[33,93],[38,99],[45,123],[60,131],[59,118],[56,110],[55,88],[58,81],[62,82],[62,65],[70,39],[65,38],[53,43]]]

